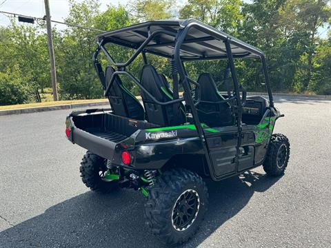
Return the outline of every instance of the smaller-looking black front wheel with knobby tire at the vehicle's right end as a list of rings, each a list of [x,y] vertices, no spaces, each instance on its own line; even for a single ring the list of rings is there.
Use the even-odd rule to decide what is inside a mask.
[[[290,142],[283,134],[272,134],[263,169],[269,176],[281,176],[288,166]]]

